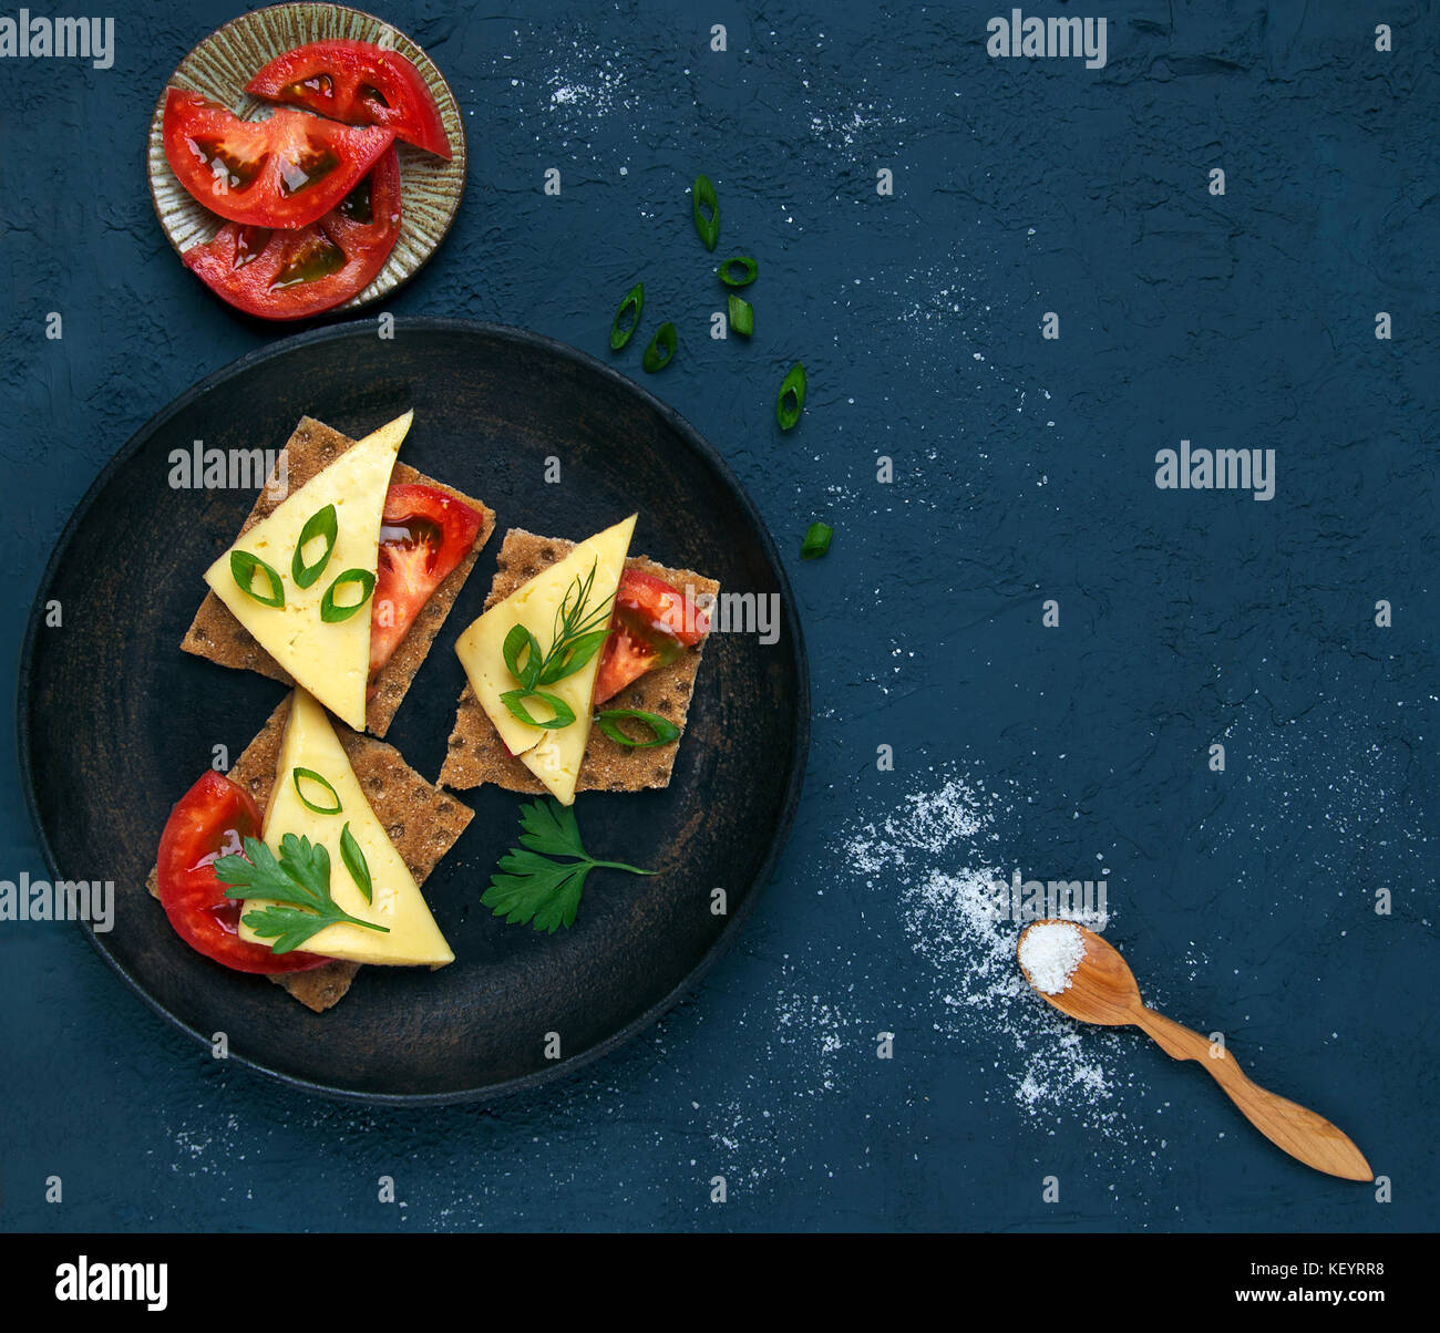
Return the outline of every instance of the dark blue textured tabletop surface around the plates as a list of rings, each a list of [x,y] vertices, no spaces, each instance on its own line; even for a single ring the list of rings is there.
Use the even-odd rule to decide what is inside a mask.
[[[166,76],[233,7],[124,9],[111,71],[0,62],[6,695],[43,563],[104,461],[281,334],[183,271],[144,181]],[[795,835],[693,999],[485,1108],[295,1095],[176,1035],[75,927],[0,924],[0,1226],[1433,1226],[1430,6],[1087,6],[1110,19],[1103,71],[986,59],[992,6],[380,9],[448,76],[472,153],[454,232],[387,308],[599,353],[644,274],[647,314],[683,337],[649,387],[791,554],[816,700]],[[760,256],[752,344],[707,337],[697,171],[721,252]],[[796,357],[809,402],[779,438],[773,386]],[[622,367],[638,373],[635,348]],[[1182,436],[1273,448],[1276,498],[1158,491],[1153,453]],[[816,517],[835,543],[801,566]],[[0,731],[0,874],[39,877],[9,710]],[[1217,738],[1224,774],[1205,767]],[[1001,1024],[953,1019],[965,950],[937,962],[903,907],[924,855],[851,864],[855,829],[946,783],[992,818],[984,848],[956,838],[943,858],[1043,877],[1103,861],[1109,933],[1146,996],[1346,1129],[1394,1202],[1290,1162],[1139,1035],[1080,1034],[1112,1071],[1103,1117],[1073,1097],[1024,1108]],[[374,1202],[382,1173],[402,1206]]]

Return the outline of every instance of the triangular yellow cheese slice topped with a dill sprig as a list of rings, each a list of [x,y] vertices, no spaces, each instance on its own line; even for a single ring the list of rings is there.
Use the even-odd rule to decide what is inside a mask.
[[[505,635],[516,625],[524,625],[536,636],[540,651],[549,652],[554,642],[560,605],[567,595],[573,596],[592,567],[595,579],[586,606],[613,605],[615,590],[625,573],[625,553],[629,550],[631,533],[635,531],[635,517],[631,514],[624,523],[596,533],[563,560],[517,587],[504,602],[497,602],[475,620],[455,645],[465,675],[469,677],[469,687],[505,747],[562,805],[575,802],[575,782],[580,776],[580,760],[590,738],[590,697],[595,694],[595,674],[600,669],[600,654],[595,654],[575,675],[540,687],[546,694],[564,700],[575,713],[575,721],[569,727],[549,731],[521,721],[500,701],[505,691],[520,688],[520,682],[505,666]],[[546,710],[543,704],[536,704],[530,711],[543,717]]]

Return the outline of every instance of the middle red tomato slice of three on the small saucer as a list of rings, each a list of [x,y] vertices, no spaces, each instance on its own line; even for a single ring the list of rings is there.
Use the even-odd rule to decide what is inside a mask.
[[[268,121],[242,121],[197,92],[166,94],[170,170],[212,212],[258,227],[318,222],[393,138],[379,125],[337,125],[288,107]]]

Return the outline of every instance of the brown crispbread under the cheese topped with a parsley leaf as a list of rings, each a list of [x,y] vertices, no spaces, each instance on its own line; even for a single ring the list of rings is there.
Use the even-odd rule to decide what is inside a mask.
[[[289,697],[281,701],[229,772],[230,780],[249,792],[261,810],[269,805],[271,789],[275,786],[275,766],[279,763],[279,746],[288,717]],[[334,727],[370,809],[384,825],[415,882],[423,884],[455,845],[455,839],[465,832],[474,812],[449,793],[432,787],[400,757],[395,746],[372,736],[360,736],[341,721],[336,721]],[[145,887],[154,897],[160,895],[154,871]],[[359,963],[336,959],[312,972],[292,972],[272,976],[271,980],[284,986],[307,1009],[321,1013],[344,998],[359,970]]]

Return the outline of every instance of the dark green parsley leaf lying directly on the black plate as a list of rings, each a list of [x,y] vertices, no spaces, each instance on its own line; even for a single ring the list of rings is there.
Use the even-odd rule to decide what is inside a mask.
[[[624,869],[652,875],[652,869],[619,861],[596,861],[580,845],[580,826],[570,806],[553,797],[520,808],[520,846],[513,846],[490,878],[480,901],[511,926],[528,923],[554,934],[575,924],[585,880],[592,869]],[[553,857],[570,859],[556,861]]]

